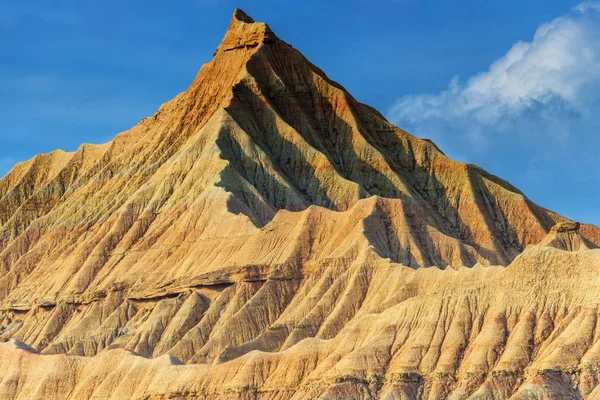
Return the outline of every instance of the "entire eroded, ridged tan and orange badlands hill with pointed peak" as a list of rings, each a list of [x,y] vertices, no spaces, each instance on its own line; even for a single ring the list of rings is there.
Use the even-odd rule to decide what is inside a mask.
[[[0,398],[600,398],[598,244],[236,10],[152,117],[0,180]]]

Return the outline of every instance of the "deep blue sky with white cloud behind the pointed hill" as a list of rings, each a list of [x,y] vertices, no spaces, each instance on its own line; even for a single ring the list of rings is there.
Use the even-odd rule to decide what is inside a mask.
[[[0,175],[112,139],[184,90],[235,7],[359,101],[600,225],[600,3],[0,0]]]

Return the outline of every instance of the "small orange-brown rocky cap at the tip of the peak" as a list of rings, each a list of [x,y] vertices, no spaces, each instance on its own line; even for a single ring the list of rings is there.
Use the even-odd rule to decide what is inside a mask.
[[[231,17],[229,28],[218,52],[256,47],[264,42],[272,42],[277,37],[264,22],[255,22],[244,11],[236,8]]]

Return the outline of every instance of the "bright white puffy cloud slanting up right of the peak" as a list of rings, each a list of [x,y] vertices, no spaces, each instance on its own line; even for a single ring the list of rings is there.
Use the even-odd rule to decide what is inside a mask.
[[[416,134],[454,129],[480,142],[532,118],[556,135],[600,102],[600,3],[587,2],[538,27],[487,71],[462,83],[455,77],[438,94],[404,96],[389,118]],[[596,106],[596,107],[594,107]]]

